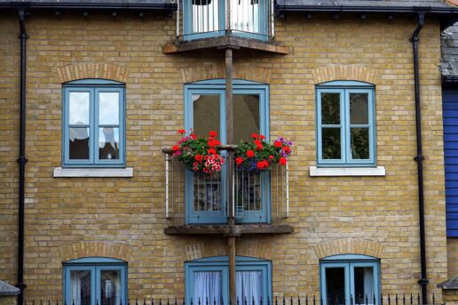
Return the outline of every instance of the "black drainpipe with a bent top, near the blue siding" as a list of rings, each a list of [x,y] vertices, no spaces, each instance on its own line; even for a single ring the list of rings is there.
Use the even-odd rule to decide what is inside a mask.
[[[422,264],[422,278],[418,284],[422,285],[422,303],[428,303],[428,278],[426,277],[426,245],[424,237],[424,194],[423,194],[423,160],[422,155],[422,109],[420,100],[420,68],[418,67],[418,35],[424,25],[424,12],[418,13],[418,25],[410,41],[414,46],[414,75],[415,75],[415,122],[416,122],[416,157],[418,176],[418,213],[420,221],[420,260]]]

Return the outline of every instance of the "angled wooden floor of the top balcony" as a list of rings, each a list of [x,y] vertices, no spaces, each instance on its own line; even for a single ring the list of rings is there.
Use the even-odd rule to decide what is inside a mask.
[[[202,49],[249,49],[261,52],[270,52],[278,55],[287,55],[288,47],[274,42],[244,38],[232,35],[202,38],[190,41],[178,41],[165,44],[162,47],[164,54],[190,52]]]

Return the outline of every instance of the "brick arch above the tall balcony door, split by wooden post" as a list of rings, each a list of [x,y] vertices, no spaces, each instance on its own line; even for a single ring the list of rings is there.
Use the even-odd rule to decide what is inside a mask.
[[[208,79],[225,78],[225,66],[221,63],[204,63],[198,66],[181,68],[180,72],[184,84]],[[271,70],[268,68],[242,63],[233,65],[233,78],[270,84],[271,75]]]

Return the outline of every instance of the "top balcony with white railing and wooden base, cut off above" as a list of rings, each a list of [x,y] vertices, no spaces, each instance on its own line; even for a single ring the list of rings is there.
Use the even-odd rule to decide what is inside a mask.
[[[178,4],[177,40],[162,52],[232,47],[288,54],[273,41],[274,0],[183,0]],[[182,21],[182,22],[181,22]]]

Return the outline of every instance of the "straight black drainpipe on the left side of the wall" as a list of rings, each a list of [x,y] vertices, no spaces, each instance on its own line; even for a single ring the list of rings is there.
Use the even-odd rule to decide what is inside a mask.
[[[24,303],[24,193],[26,181],[26,51],[27,51],[27,32],[26,32],[26,12],[19,9],[20,21],[20,165],[19,178],[19,223],[18,223],[18,284],[20,289],[18,304]]]

